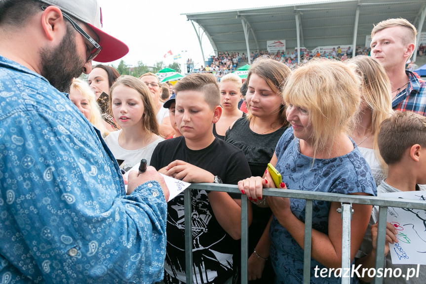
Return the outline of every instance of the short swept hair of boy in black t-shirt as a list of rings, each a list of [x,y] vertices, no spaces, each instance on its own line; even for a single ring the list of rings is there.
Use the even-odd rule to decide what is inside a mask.
[[[220,91],[216,77],[210,73],[194,73],[187,75],[178,81],[174,90],[176,97],[181,91],[200,91],[204,94],[204,100],[213,110],[220,105]]]

